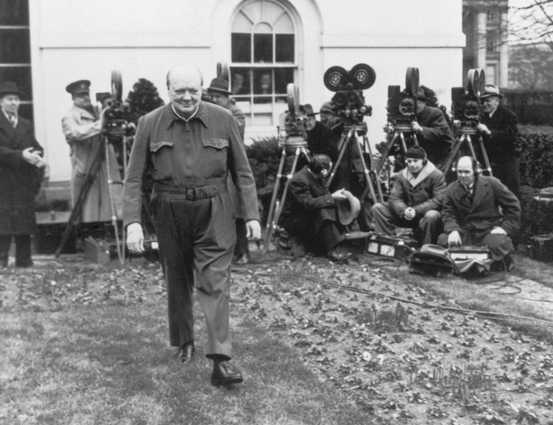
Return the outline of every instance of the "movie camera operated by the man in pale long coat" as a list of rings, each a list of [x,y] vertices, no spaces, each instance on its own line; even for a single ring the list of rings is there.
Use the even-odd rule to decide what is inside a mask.
[[[131,108],[129,103],[122,101],[122,79],[121,72],[111,71],[111,95],[104,96],[103,93],[97,93],[96,100],[102,101],[104,109],[104,128],[103,131],[113,141],[114,136],[129,137],[135,130],[135,125],[129,122],[131,118]]]

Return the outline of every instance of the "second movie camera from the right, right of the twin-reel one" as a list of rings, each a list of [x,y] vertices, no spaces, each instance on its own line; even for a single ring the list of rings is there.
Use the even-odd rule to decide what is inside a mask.
[[[388,123],[395,130],[412,131],[411,122],[417,114],[417,90],[419,69],[407,68],[405,90],[400,86],[388,86]]]

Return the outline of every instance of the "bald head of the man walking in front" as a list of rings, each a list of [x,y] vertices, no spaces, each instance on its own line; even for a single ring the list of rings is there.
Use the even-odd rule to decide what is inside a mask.
[[[203,78],[196,66],[178,64],[167,72],[169,99],[177,113],[184,117],[194,114],[202,98]]]

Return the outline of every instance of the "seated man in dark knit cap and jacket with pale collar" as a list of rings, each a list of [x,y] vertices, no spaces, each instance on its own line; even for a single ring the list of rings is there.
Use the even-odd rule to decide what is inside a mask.
[[[442,232],[444,174],[420,146],[409,148],[405,161],[407,166],[395,175],[388,201],[373,205],[375,230],[395,235],[396,226],[413,228],[420,244],[435,244]]]

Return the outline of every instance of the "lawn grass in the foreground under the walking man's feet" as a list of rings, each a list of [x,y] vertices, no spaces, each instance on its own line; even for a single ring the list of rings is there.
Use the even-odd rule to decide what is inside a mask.
[[[188,366],[168,346],[165,302],[1,312],[0,424],[347,425],[370,419],[247,318],[233,323],[245,382],[211,386],[199,310],[199,347]]]

